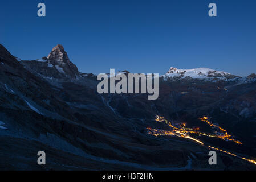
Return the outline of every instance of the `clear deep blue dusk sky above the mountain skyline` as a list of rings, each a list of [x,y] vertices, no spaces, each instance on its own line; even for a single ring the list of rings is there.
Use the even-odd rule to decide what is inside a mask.
[[[39,2],[46,17],[37,16]],[[208,16],[210,2],[217,17]],[[21,59],[62,44],[79,71],[256,72],[256,1],[1,1],[0,43]]]

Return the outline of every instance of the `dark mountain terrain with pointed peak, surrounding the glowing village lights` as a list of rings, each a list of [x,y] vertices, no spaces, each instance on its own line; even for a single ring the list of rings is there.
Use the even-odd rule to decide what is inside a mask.
[[[256,165],[208,146],[256,159],[256,76],[204,70],[196,76],[171,68],[160,78],[159,98],[147,94],[99,94],[96,75],[80,73],[57,45],[47,57],[20,60],[0,44],[1,170],[255,170]],[[201,70],[201,69],[200,69]],[[209,78],[209,79],[208,79]],[[208,117],[242,144],[221,138],[152,135],[186,123],[208,133]],[[185,125],[184,125],[185,126]],[[46,165],[37,164],[38,151]]]

